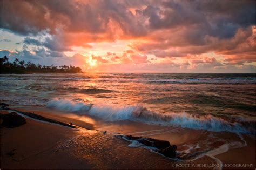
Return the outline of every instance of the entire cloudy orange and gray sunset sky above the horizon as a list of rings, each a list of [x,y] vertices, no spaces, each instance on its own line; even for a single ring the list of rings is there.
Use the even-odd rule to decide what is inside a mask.
[[[256,73],[255,1],[0,0],[0,57],[85,72]]]

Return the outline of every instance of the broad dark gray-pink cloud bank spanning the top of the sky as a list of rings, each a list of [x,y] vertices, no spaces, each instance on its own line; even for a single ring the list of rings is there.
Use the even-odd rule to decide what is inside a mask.
[[[255,1],[2,0],[1,16],[1,28],[24,35],[40,31],[54,34],[58,29],[113,34],[111,24],[116,24],[125,36],[146,36],[150,30],[185,26],[190,27],[188,40],[195,43],[192,39],[197,37],[200,42],[207,35],[231,38],[239,28],[255,25]],[[47,44],[52,46],[53,42]]]

